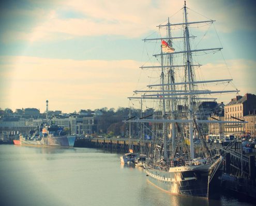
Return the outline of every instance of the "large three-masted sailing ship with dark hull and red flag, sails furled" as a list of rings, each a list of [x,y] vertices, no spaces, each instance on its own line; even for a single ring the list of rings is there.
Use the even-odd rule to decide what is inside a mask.
[[[232,79],[197,79],[198,68],[202,65],[196,60],[201,55],[218,53],[222,48],[197,48],[198,44],[191,42],[196,38],[190,34],[191,28],[200,29],[214,20],[188,21],[186,1],[181,11],[183,22],[171,23],[168,18],[167,23],[158,26],[164,35],[160,33],[160,37],[143,39],[151,43],[151,48],[154,52],[158,50],[158,53],[153,54],[157,63],[143,65],[141,69],[156,75],[145,89],[134,91],[133,96],[128,98],[132,105],[141,105],[141,110],[142,104],[153,109],[153,114],[132,117],[125,122],[143,124],[152,130],[152,149],[144,164],[149,182],[171,194],[208,198],[210,185],[214,182],[214,174],[222,158],[214,156],[207,147],[207,124],[244,122],[235,117],[231,121],[205,118],[204,109],[199,107],[202,102],[210,104],[211,101],[216,102],[217,98],[213,95],[221,94],[223,97],[225,93],[239,91],[208,89],[209,84],[214,89],[220,84],[225,88]],[[179,36],[172,36],[173,31]],[[152,59],[148,62],[152,62]],[[200,146],[197,142],[197,150],[194,147],[196,137],[200,142]]]

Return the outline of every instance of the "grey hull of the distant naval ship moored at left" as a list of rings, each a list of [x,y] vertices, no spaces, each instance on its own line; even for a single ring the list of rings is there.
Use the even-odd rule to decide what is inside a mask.
[[[41,140],[21,139],[20,144],[21,145],[32,145],[32,146],[73,147],[75,140],[76,140],[76,136],[57,136],[57,137],[53,137],[53,138],[42,138]]]

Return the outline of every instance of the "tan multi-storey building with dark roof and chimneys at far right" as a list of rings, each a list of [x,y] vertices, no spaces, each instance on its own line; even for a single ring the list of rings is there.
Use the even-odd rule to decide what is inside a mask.
[[[249,114],[249,111],[256,110],[256,95],[245,94],[244,96],[236,96],[224,107],[225,121],[239,121]],[[225,124],[225,132],[227,134],[241,135],[245,132],[242,124]]]

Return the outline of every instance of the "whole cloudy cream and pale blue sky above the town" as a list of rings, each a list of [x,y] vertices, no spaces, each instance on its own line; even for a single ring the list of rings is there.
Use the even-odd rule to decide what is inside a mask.
[[[0,108],[63,112],[128,107],[148,79],[142,39],[159,24],[182,22],[181,0],[36,1],[0,3]],[[208,79],[232,78],[240,95],[256,94],[256,1],[187,0],[189,18],[215,20],[199,28],[198,47],[223,47],[199,63]],[[181,19],[182,20],[182,19]],[[214,37],[214,40],[210,38]],[[152,55],[150,56],[150,58]],[[220,96],[228,103],[236,94]]]

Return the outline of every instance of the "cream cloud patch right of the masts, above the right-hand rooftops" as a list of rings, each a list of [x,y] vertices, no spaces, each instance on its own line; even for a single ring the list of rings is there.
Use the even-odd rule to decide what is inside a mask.
[[[227,60],[227,65],[223,61],[215,64],[208,63],[201,66],[196,73],[199,76],[198,80],[233,79],[230,83],[212,83],[210,87],[204,86],[204,89],[212,91],[237,89],[240,91],[240,95],[245,93],[256,94],[256,84],[253,80],[256,75],[255,63],[254,60],[245,59]],[[236,96],[236,93],[215,96],[220,98],[220,101],[228,103],[232,97]]]

